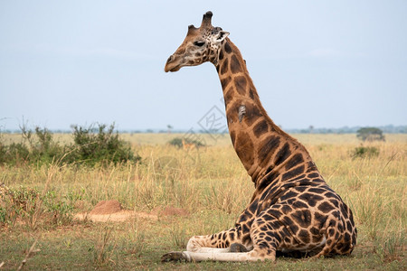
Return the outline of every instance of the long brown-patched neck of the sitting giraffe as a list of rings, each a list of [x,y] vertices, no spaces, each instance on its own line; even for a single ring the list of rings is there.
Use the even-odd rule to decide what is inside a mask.
[[[301,164],[307,166],[311,161],[307,150],[267,115],[241,52],[228,38],[219,51],[216,70],[233,147],[256,188],[267,185],[260,183],[266,175],[276,178],[293,168],[301,169]]]

